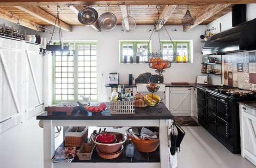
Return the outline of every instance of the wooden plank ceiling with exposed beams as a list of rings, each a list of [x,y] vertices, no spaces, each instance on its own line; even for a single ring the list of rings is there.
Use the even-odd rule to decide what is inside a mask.
[[[0,0],[0,18],[13,23],[22,18],[19,20],[21,25],[33,30],[39,27],[43,31],[41,28],[55,24],[57,6],[60,6],[61,29],[72,32],[72,26],[83,25],[77,15],[86,6],[96,9],[98,16],[112,12],[117,18],[117,25],[122,25],[126,16],[133,17],[136,25],[154,25],[153,20],[158,16],[165,19],[164,25],[181,25],[189,7],[195,24],[183,26],[183,30],[190,30],[231,12],[232,6],[238,3],[255,3],[255,0]],[[97,22],[91,27],[100,31]],[[158,26],[155,29],[158,31]]]

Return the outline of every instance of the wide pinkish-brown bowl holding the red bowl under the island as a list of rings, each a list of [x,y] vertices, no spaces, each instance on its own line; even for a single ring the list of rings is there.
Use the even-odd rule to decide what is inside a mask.
[[[110,132],[116,135],[116,143],[113,144],[103,144],[103,143],[99,143],[96,141],[96,137],[100,134],[95,134],[92,136],[92,141],[96,144],[96,146],[98,147],[98,150],[101,153],[104,154],[110,154],[110,153],[116,153],[117,151],[120,150],[120,148],[122,147],[122,144],[125,143],[126,141],[126,136],[122,133],[119,132]]]

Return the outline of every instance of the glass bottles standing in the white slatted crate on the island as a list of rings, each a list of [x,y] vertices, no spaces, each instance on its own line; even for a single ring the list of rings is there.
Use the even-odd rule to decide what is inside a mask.
[[[129,101],[133,102],[134,97],[133,97],[133,90],[127,89],[125,93],[125,88],[121,89],[121,85],[118,85],[118,92],[116,92],[116,88],[113,88],[113,92],[111,93],[111,101]]]

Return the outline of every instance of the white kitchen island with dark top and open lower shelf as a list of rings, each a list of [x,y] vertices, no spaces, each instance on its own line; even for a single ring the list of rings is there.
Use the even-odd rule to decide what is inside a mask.
[[[37,120],[43,120],[43,151],[44,168],[169,168],[169,148],[167,139],[168,120],[173,119],[173,115],[161,103],[157,108],[162,108],[158,113],[151,109],[146,114],[147,108],[135,108],[135,114],[110,114],[108,109],[101,114],[91,114],[90,112],[73,112],[71,115],[43,113],[37,116]],[[159,155],[160,162],[72,162],[70,164],[52,162],[51,158],[55,153],[55,126],[156,126],[159,127]]]

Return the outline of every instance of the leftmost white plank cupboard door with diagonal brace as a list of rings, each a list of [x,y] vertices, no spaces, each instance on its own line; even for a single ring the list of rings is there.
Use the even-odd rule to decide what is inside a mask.
[[[22,122],[24,43],[0,38],[0,132]]]

